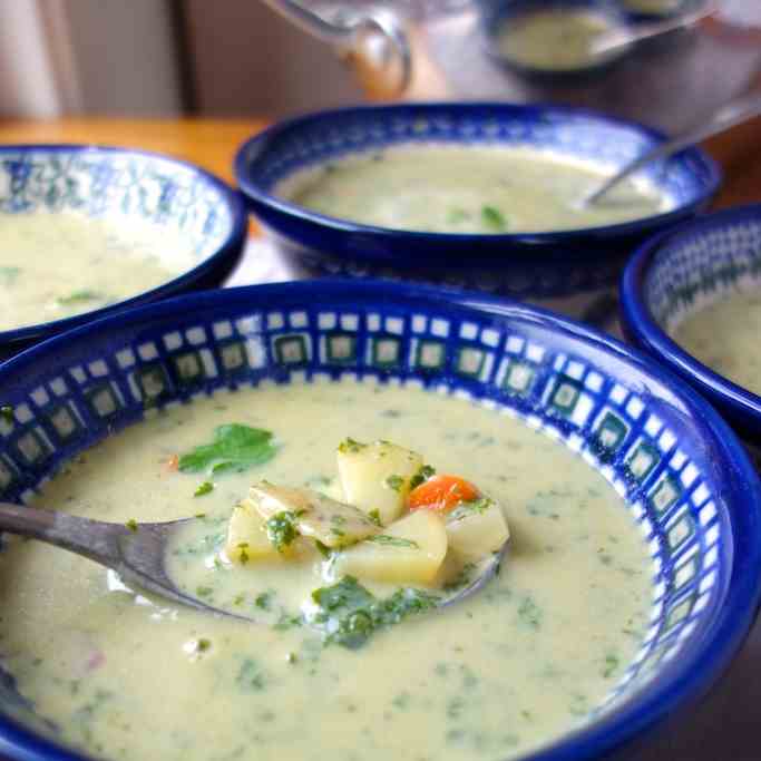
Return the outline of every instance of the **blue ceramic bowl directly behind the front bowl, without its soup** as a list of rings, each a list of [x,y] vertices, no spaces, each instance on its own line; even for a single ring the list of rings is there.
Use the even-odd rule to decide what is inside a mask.
[[[648,178],[674,199],[673,211],[608,227],[556,233],[387,230],[311,212],[280,198],[277,188],[305,167],[396,145],[530,146],[614,167],[662,139],[632,123],[555,106],[373,106],[321,111],[264,130],[238,150],[235,176],[251,211],[312,274],[475,287],[579,313],[578,304],[569,300],[612,290],[626,255],[638,243],[708,205],[720,173],[702,150],[687,149],[646,169]]]

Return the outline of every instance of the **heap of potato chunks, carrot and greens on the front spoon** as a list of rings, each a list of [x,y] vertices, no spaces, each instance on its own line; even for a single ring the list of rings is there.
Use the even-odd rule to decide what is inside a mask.
[[[199,447],[194,457],[207,467],[217,452]],[[328,584],[292,621],[320,630],[325,643],[357,647],[374,631],[436,607],[442,591],[456,588],[453,580],[509,537],[492,499],[464,478],[436,475],[414,451],[345,439],[336,459],[338,479],[323,485],[332,496],[269,481],[251,487],[233,509],[219,553],[223,563],[252,573],[256,562],[281,560],[309,577],[321,563]],[[383,596],[358,579],[387,585]]]

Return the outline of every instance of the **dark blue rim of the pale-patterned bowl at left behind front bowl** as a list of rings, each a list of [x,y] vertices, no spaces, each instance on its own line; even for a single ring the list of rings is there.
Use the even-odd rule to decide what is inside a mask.
[[[178,292],[182,292],[183,289],[188,287],[199,280],[203,280],[206,275],[219,266],[227,257],[234,257],[237,260],[243,251],[247,234],[247,213],[241,194],[215,174],[202,168],[196,164],[193,164],[192,162],[156,150],[144,150],[142,148],[129,148],[116,145],[101,145],[97,143],[4,143],[0,145],[0,160],[6,154],[31,154],[35,152],[47,154],[124,154],[148,159],[159,159],[175,164],[198,175],[219,193],[222,197],[221,203],[225,204],[230,209],[232,224],[228,234],[217,245],[212,254],[198,262],[198,264],[196,264],[194,267],[186,270],[176,277],[173,277],[165,283],[160,283],[149,291],[142,291],[134,296],[123,299],[114,304],[107,304],[106,306],[101,306],[99,309],[80,312],[79,314],[74,314],[60,320],[39,322],[31,325],[22,325],[21,328],[0,331],[0,347],[8,345],[12,348],[13,344],[25,341],[43,340],[50,335],[70,330],[91,320],[104,318],[113,312],[119,312],[124,309],[156,301],[165,296],[175,295]]]

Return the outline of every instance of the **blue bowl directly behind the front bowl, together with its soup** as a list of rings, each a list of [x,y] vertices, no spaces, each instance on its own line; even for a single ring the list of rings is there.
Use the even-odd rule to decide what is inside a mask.
[[[700,149],[584,198],[663,140],[582,109],[413,104],[321,111],[245,143],[235,175],[281,250],[313,274],[471,286],[580,314],[630,250],[702,209]]]

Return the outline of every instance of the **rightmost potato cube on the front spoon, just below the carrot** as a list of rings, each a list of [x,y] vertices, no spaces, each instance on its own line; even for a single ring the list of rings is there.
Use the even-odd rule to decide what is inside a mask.
[[[479,560],[497,552],[509,536],[501,508],[488,497],[460,503],[447,516],[449,548],[464,560]]]

